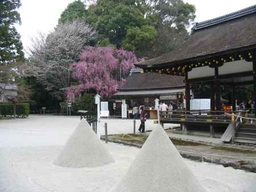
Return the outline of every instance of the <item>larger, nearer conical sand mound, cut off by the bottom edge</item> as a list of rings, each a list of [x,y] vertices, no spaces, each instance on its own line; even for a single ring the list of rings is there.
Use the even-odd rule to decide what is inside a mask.
[[[155,127],[116,192],[205,192],[160,126]]]

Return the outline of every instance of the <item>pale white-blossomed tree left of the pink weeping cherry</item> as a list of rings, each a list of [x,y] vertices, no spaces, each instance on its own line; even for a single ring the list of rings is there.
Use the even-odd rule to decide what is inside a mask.
[[[32,40],[30,70],[56,99],[64,98],[63,88],[71,85],[72,69],[85,45],[90,45],[96,32],[83,20],[59,24],[48,36],[40,34]]]

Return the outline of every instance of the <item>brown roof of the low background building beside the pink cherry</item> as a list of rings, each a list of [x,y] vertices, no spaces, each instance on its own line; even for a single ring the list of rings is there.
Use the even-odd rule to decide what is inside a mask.
[[[184,77],[159,73],[131,73],[119,90],[170,89],[185,86]]]

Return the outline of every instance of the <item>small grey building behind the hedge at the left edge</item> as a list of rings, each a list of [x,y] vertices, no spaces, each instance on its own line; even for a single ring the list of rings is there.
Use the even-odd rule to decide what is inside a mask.
[[[11,102],[18,96],[18,86],[0,83],[0,103]]]

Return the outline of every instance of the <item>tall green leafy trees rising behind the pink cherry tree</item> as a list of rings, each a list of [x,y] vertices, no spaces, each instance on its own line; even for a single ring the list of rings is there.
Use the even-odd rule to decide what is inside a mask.
[[[179,47],[195,19],[195,6],[182,0],[98,0],[86,6],[80,0],[68,5],[59,23],[82,18],[98,33],[97,44],[155,57]]]

